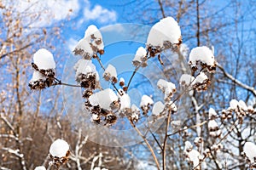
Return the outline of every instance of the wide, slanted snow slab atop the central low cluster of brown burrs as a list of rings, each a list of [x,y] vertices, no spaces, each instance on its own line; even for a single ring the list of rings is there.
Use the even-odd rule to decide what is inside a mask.
[[[110,88],[92,94],[89,98],[90,105],[99,105],[102,109],[108,111],[111,111],[110,104],[113,103],[113,101],[118,101],[118,97]]]

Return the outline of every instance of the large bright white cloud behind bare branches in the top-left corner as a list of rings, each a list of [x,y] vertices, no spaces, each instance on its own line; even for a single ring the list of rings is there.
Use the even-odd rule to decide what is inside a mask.
[[[50,26],[79,12],[79,0],[4,0],[3,4],[26,16],[23,24],[30,27]]]

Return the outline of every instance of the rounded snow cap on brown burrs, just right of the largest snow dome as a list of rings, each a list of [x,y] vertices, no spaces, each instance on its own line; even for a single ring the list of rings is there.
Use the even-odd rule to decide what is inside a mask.
[[[189,54],[189,65],[195,66],[197,61],[207,65],[214,65],[212,50],[206,46],[193,48]]]

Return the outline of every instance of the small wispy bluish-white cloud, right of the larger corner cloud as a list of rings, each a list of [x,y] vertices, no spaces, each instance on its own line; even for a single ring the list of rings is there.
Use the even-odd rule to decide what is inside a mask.
[[[85,0],[84,5],[84,17],[80,22],[96,20],[99,23],[106,24],[115,22],[117,20],[117,14],[114,10],[103,8],[101,5],[96,4],[91,8],[90,2]]]

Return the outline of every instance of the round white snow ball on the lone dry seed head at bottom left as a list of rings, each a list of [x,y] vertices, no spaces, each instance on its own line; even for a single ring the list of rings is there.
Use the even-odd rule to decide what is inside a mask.
[[[63,157],[66,156],[69,150],[69,145],[63,139],[56,139],[49,147],[49,153],[52,156]]]

